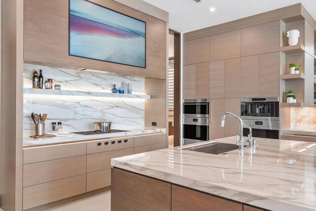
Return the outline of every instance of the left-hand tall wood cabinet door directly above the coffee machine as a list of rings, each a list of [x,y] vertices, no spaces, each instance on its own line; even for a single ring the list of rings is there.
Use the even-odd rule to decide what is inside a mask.
[[[259,97],[259,55],[241,58],[241,97]]]

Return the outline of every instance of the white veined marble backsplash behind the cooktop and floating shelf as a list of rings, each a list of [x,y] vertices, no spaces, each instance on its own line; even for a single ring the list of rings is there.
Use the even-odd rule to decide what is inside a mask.
[[[131,83],[133,94],[145,93],[145,80],[118,77],[102,73],[74,71],[52,67],[24,65],[24,87],[32,87],[34,69],[42,70],[44,81],[53,79],[63,90],[111,92],[113,84]],[[113,129],[129,130],[144,127],[145,100],[129,98],[82,97],[61,95],[24,94],[23,134],[34,134],[31,113],[47,113],[46,132],[52,122],[62,122],[62,132],[93,130],[93,122],[101,119],[112,121]]]

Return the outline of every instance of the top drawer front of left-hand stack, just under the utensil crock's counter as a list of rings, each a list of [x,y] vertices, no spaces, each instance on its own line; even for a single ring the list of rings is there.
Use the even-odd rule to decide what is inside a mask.
[[[86,143],[61,144],[23,149],[23,164],[69,158],[86,154]]]

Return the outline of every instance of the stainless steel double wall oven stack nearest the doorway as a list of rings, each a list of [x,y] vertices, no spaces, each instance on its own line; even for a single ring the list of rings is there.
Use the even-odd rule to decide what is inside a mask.
[[[209,138],[209,99],[183,100],[183,144]]]

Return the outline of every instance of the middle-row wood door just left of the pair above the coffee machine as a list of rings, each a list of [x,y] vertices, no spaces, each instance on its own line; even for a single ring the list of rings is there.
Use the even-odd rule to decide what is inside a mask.
[[[240,94],[240,58],[225,60],[225,98]]]

